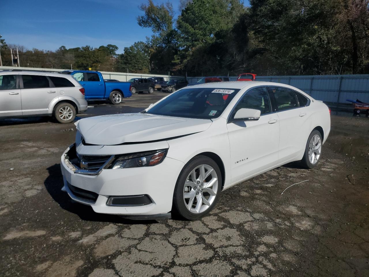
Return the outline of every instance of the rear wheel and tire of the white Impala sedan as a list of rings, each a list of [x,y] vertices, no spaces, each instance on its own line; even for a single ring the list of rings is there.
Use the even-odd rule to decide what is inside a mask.
[[[322,142],[321,133],[318,130],[313,130],[307,139],[304,157],[300,161],[304,168],[310,169],[317,166],[321,157]],[[319,144],[320,146],[318,146]]]

